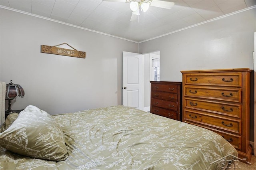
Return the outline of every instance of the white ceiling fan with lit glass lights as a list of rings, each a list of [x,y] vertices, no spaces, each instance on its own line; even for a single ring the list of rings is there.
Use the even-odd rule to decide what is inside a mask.
[[[163,0],[102,0],[102,1],[115,1],[130,3],[130,9],[132,10],[131,21],[136,20],[140,15],[140,11],[146,12],[150,6],[158,8],[171,9],[174,6],[174,2],[167,2]]]

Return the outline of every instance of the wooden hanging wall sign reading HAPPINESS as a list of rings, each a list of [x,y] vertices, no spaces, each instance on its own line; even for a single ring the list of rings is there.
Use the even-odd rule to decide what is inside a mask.
[[[67,43],[62,43],[59,45],[63,45],[63,44],[68,45]],[[49,54],[57,54],[57,55],[66,55],[66,56],[70,56],[70,57],[85,58],[86,52],[78,51],[78,50],[74,49],[73,47],[71,47],[70,45],[68,45],[68,46],[70,46],[74,50],[56,47],[59,45],[55,45],[55,46],[41,45],[41,53],[49,53]]]

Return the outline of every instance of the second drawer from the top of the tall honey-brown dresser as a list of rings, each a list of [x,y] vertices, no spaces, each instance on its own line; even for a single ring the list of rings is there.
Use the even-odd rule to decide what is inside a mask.
[[[184,87],[186,97],[201,97],[224,101],[241,102],[241,89],[214,89],[204,87]]]

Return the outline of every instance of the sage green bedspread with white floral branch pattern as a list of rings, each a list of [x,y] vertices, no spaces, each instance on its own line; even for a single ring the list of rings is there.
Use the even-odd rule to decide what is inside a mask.
[[[52,117],[64,132],[68,158],[46,161],[0,147],[0,169],[218,170],[238,156],[210,130],[122,105]]]

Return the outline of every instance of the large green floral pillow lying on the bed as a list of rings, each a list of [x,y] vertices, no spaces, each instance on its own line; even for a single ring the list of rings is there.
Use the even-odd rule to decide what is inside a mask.
[[[0,145],[16,154],[44,160],[67,158],[64,134],[47,112],[29,105],[4,132]]]

